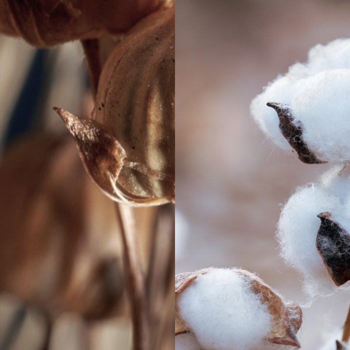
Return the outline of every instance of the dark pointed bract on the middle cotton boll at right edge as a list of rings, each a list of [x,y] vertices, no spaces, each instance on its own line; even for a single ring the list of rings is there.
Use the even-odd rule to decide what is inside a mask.
[[[331,220],[329,212],[320,213],[318,217],[321,225],[316,247],[332,280],[341,286],[350,280],[350,234]]]

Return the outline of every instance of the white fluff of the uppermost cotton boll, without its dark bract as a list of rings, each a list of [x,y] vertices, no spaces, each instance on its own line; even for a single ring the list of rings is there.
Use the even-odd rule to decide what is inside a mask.
[[[309,148],[324,161],[350,159],[350,39],[316,45],[305,63],[295,63],[285,75],[264,87],[251,103],[251,114],[277,146],[290,146],[267,102],[289,104],[301,122]]]

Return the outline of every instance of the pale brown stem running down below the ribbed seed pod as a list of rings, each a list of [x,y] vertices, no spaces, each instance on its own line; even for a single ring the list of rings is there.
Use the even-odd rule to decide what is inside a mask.
[[[133,323],[133,349],[148,350],[146,284],[137,252],[133,212],[128,205],[118,203],[116,203],[116,212],[124,248],[124,271]]]

